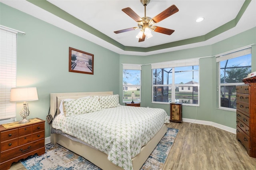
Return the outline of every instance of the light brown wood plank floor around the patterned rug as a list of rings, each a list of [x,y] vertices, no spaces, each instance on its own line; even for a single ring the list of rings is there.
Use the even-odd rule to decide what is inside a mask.
[[[236,134],[208,125],[170,123],[179,129],[163,170],[256,170],[256,158],[248,156]],[[21,163],[11,170],[26,170]]]

